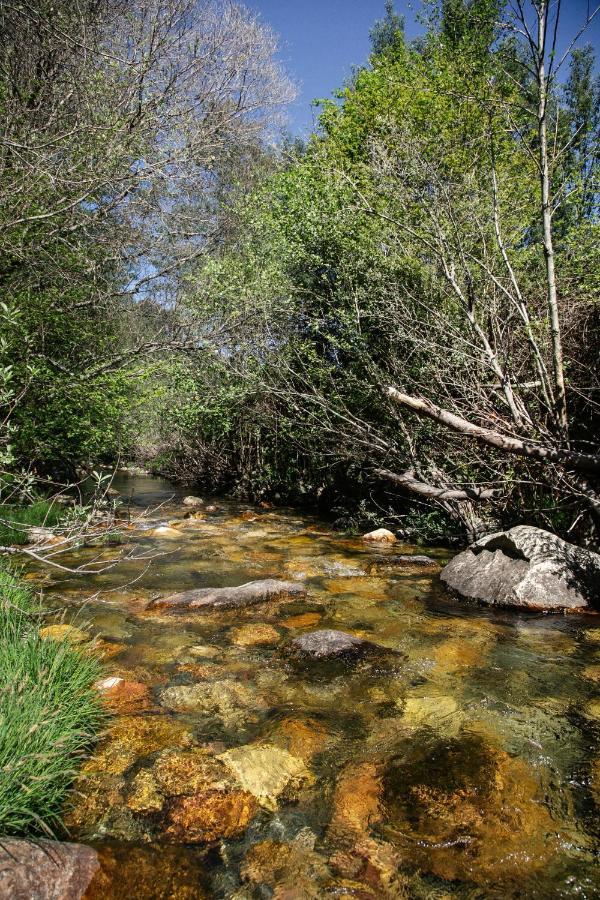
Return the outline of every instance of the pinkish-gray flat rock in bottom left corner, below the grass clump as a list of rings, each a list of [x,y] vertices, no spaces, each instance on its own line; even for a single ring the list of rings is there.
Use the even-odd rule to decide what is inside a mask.
[[[0,838],[0,897],[6,900],[80,900],[100,870],[83,844]]]

